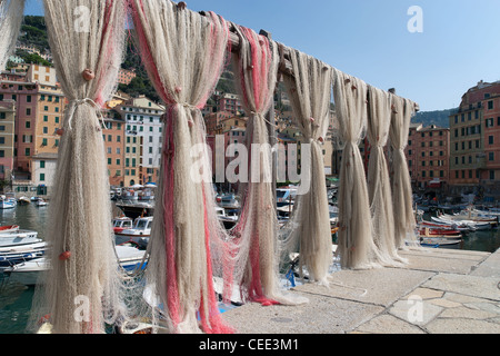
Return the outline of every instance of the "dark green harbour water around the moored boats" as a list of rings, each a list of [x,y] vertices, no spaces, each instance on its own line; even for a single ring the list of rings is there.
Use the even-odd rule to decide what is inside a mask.
[[[116,210],[116,209],[113,209]],[[21,229],[36,230],[40,238],[47,236],[49,207],[18,206],[0,210],[0,225],[19,225]],[[460,245],[449,248],[494,253],[500,248],[500,229],[476,231],[463,236]],[[34,288],[9,283],[0,276],[0,334],[23,334],[31,309]]]

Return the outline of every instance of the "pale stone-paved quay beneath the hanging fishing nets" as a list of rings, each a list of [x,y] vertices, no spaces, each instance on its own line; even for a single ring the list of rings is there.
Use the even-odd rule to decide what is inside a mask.
[[[500,334],[500,250],[402,251],[402,268],[340,270],[290,293],[301,306],[248,304],[223,318],[239,334]]]

